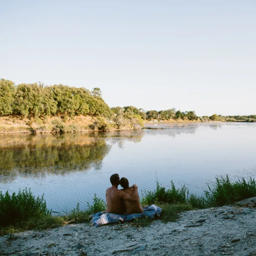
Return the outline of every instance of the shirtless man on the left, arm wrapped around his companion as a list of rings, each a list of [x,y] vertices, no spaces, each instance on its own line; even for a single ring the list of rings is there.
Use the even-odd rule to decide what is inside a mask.
[[[124,214],[124,200],[129,202],[135,202],[139,200],[138,186],[134,184],[134,193],[127,194],[123,190],[119,190],[117,188],[120,184],[118,174],[113,174],[110,177],[110,182],[112,187],[106,189],[106,213]]]

